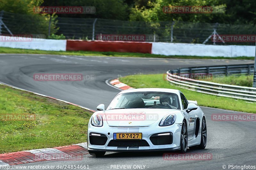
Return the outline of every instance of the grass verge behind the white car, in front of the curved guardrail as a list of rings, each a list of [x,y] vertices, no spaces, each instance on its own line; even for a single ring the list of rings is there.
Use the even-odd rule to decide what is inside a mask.
[[[236,100],[227,97],[214,96],[199,92],[193,92],[172,85],[163,78],[163,74],[132,75],[119,78],[121,82],[134,88],[171,88],[184,93],[188,100],[197,100],[199,106],[222,108],[240,112],[256,113],[256,102]],[[218,112],[221,112],[218,111]]]

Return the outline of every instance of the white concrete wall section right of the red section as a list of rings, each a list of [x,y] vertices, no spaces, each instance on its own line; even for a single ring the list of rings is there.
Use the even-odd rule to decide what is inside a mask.
[[[195,56],[255,56],[255,46],[239,45],[204,45],[187,43],[153,42],[152,54],[160,55],[195,55]]]

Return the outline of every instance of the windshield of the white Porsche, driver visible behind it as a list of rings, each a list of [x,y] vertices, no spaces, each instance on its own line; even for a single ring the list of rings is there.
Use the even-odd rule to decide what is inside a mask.
[[[174,93],[129,92],[117,95],[108,107],[108,109],[123,108],[180,109],[180,102],[178,95]]]

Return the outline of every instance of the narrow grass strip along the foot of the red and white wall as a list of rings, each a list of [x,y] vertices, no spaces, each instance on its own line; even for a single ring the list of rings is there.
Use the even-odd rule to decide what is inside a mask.
[[[236,59],[254,60],[254,57],[209,57],[209,56],[184,56],[184,55],[155,55],[143,53],[120,52],[94,52],[94,51],[43,51],[19,48],[0,47],[0,53],[7,54],[52,54],[52,55],[81,55],[81,56],[114,56],[114,57],[154,57],[154,58],[184,58],[184,59]]]

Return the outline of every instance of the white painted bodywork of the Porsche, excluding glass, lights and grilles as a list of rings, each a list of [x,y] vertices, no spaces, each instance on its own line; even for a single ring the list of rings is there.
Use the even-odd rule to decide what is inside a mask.
[[[129,112],[144,112],[146,117],[149,115],[156,115],[154,119],[148,119],[144,121],[133,121],[133,120],[123,120],[123,121],[111,121],[106,116],[106,119],[103,120],[102,127],[95,127],[91,124],[91,119],[88,123],[88,132],[87,132],[87,145],[88,150],[90,151],[153,151],[153,150],[179,150],[180,149],[180,134],[181,134],[181,124],[183,120],[187,122],[188,129],[188,147],[199,145],[201,142],[201,120],[205,116],[202,109],[197,107],[196,110],[192,110],[189,113],[186,112],[186,109],[182,108],[180,91],[173,89],[163,89],[163,88],[143,88],[143,89],[132,89],[124,90],[120,92],[170,92],[175,93],[179,97],[180,110],[177,109],[161,109],[161,108],[127,108],[127,109],[112,109],[103,111],[97,111],[95,114],[100,115],[111,115],[111,114],[125,114]],[[189,100],[189,103],[197,104],[196,101]],[[176,115],[176,121],[170,126],[159,126],[159,122],[165,115],[169,114]],[[93,116],[92,115],[92,116]],[[145,116],[144,115],[144,116]],[[150,141],[150,137],[154,134],[159,133],[172,133],[172,144],[163,144],[163,145],[154,145]],[[104,145],[93,145],[90,143],[90,133],[99,133],[107,136],[107,142]],[[108,146],[109,142],[113,140],[114,133],[142,133],[142,140],[145,140],[149,146],[139,146],[139,147],[116,147]]]

